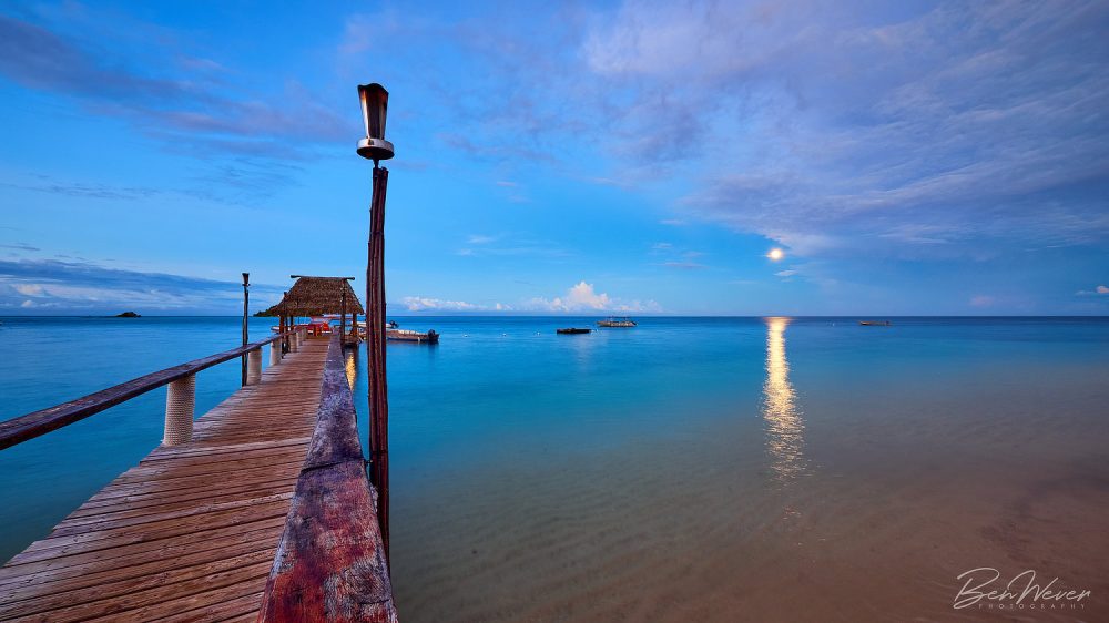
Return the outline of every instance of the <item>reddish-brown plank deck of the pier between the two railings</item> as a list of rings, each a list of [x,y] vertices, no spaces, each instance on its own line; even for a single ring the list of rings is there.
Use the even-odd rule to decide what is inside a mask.
[[[155,449],[0,568],[0,621],[254,620],[327,343],[306,340],[200,418],[191,442]]]

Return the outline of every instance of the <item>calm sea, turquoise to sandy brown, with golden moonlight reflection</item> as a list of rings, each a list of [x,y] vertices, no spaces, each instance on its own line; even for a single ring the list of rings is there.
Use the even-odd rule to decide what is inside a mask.
[[[406,621],[1106,619],[1105,319],[647,318],[579,336],[553,329],[591,318],[399,319],[444,334],[389,347]],[[232,347],[238,326],[6,318],[0,338],[7,418]],[[238,367],[199,378],[200,410]],[[156,445],[163,397],[0,452],[0,558]],[[365,413],[364,374],[356,399]],[[954,610],[956,576],[983,566],[1092,595]]]

